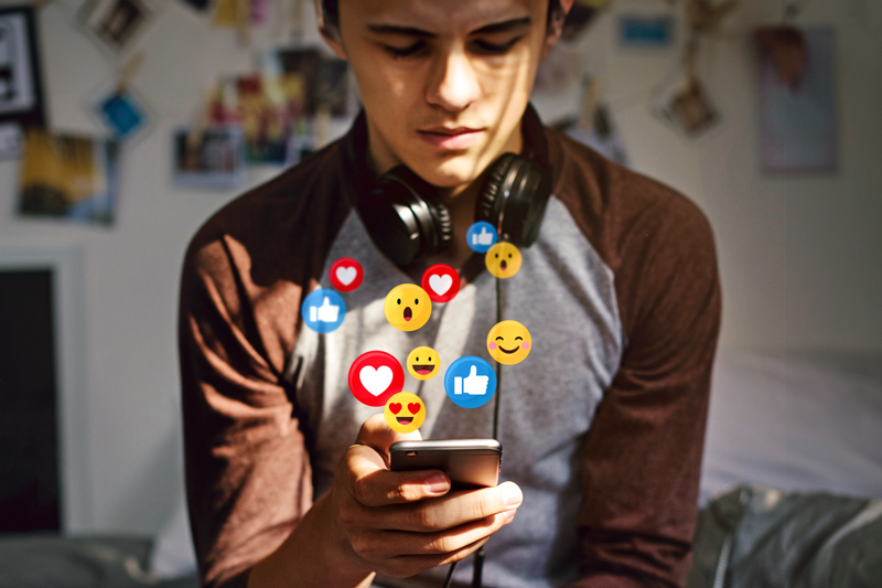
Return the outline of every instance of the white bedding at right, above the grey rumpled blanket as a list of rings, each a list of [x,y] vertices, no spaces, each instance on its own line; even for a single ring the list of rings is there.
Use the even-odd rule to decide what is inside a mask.
[[[882,498],[882,357],[720,353],[701,504],[739,482]]]

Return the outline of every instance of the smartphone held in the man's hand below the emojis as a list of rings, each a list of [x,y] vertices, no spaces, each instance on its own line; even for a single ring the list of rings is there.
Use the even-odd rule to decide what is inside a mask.
[[[441,470],[451,490],[473,490],[499,482],[503,446],[496,439],[397,441],[389,458],[392,471]]]

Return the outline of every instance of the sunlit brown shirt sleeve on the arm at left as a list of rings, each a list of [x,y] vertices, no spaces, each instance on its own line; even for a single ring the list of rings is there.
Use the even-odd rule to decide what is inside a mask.
[[[207,233],[191,245],[181,290],[187,503],[203,584],[245,586],[250,566],[284,541],[312,500],[282,377],[300,291],[256,285],[245,247]]]

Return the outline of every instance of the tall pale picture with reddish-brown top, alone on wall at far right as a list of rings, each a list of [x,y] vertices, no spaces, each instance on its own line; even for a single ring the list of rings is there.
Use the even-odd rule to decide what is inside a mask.
[[[761,29],[760,156],[770,173],[838,169],[835,33]]]

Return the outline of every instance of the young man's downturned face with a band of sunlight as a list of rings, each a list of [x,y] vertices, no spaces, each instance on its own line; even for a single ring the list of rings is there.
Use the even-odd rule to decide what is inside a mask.
[[[520,118],[549,47],[548,0],[340,0],[340,40],[378,172],[404,163],[459,189],[519,152]]]

